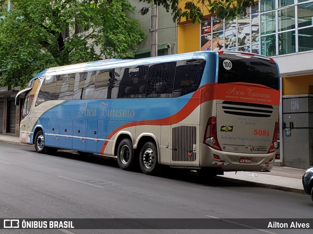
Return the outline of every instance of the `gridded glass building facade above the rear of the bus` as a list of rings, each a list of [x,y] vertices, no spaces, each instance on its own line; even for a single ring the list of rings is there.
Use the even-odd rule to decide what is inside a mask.
[[[260,0],[232,21],[201,22],[201,50],[280,56],[313,50],[313,0]]]

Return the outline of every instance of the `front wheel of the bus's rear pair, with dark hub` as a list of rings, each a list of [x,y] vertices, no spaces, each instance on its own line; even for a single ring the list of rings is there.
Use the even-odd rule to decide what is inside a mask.
[[[132,170],[135,164],[135,155],[133,143],[125,138],[123,139],[117,149],[117,162],[122,170]]]

